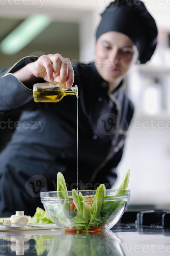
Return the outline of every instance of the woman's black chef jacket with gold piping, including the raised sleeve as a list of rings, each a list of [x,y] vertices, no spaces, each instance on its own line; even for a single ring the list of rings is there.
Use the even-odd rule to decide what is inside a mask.
[[[37,59],[27,56],[0,71],[0,113],[22,110],[11,141],[0,154],[0,217],[10,216],[15,210],[34,215],[36,207],[42,207],[40,191],[56,190],[58,171],[63,173],[68,190],[77,187],[76,97],[35,103],[33,84],[26,87],[13,75]],[[73,86],[78,86],[79,94],[79,189],[96,189],[100,183],[110,189],[122,157],[133,104],[122,82],[108,93],[108,83],[94,62],[75,63],[73,68]],[[45,81],[41,78],[38,82]]]

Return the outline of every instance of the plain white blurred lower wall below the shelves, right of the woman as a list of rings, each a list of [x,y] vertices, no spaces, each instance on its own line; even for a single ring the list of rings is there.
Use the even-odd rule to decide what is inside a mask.
[[[142,117],[134,115],[131,129],[126,140],[122,161],[118,167],[118,180],[130,168],[130,204],[169,204],[170,202],[170,130],[136,129],[135,121],[141,122],[154,118],[154,126],[159,120],[169,118]]]

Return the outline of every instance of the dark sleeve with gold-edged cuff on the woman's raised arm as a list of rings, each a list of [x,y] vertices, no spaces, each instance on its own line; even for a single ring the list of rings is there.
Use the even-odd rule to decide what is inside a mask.
[[[9,113],[33,99],[33,83],[25,86],[13,73],[37,59],[38,56],[26,56],[11,68],[0,71],[0,114]]]

